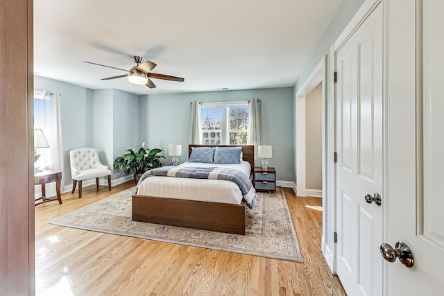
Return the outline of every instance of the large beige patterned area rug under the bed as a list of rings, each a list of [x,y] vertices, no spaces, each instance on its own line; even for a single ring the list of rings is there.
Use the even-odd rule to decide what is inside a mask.
[[[134,188],[110,196],[51,221],[52,224],[167,243],[302,262],[289,208],[280,187],[257,193],[254,209],[246,209],[246,234],[158,225],[131,220]]]

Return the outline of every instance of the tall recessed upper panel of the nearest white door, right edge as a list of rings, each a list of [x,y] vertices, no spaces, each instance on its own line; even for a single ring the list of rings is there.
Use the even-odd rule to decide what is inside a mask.
[[[441,3],[426,1],[423,31],[423,178],[424,192],[418,207],[418,232],[427,241],[444,251],[444,42],[435,36],[442,34],[444,21],[437,9]]]

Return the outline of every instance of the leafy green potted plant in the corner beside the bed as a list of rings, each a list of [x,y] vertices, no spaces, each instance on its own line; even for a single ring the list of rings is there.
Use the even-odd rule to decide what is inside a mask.
[[[145,143],[142,143],[142,147],[139,150],[135,150],[135,148],[127,149],[125,154],[114,159],[114,168],[119,172],[123,171],[125,173],[133,171],[134,182],[137,184],[143,173],[151,170],[151,168],[162,166],[160,159],[165,158],[159,155],[162,152],[163,150],[160,148],[145,148]]]

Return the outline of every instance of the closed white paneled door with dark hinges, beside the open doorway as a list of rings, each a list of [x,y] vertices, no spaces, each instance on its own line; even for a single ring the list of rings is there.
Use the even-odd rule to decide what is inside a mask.
[[[382,295],[382,4],[336,54],[336,272],[348,295]],[[383,200],[384,202],[384,200]]]

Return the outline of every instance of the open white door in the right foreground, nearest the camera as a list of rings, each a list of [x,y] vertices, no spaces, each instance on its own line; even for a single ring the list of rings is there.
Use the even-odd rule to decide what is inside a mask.
[[[444,295],[444,1],[388,1],[386,295]]]

